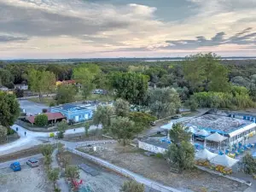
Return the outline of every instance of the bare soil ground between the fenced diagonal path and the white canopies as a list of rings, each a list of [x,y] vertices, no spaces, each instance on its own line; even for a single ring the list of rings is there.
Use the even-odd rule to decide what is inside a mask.
[[[177,189],[195,192],[242,192],[247,189],[246,185],[197,169],[180,174],[170,172],[166,160],[148,157],[131,146],[124,149],[119,143],[106,144],[102,151],[94,152],[93,155]]]

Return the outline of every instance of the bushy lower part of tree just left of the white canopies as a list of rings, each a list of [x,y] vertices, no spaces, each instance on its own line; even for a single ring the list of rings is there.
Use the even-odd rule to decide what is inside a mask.
[[[195,148],[191,143],[184,141],[179,144],[171,143],[165,156],[180,170],[190,169],[194,167]]]

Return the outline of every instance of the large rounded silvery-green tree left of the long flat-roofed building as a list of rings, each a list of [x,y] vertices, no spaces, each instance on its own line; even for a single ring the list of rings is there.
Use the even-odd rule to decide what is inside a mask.
[[[157,119],[176,113],[180,108],[180,98],[173,88],[156,88],[149,90],[149,108]]]

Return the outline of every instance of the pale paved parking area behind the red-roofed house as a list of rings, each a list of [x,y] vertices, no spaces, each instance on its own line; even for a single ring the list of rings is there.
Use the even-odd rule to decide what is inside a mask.
[[[49,108],[48,106],[36,103],[36,102],[30,102],[28,100],[20,100],[20,108],[25,109],[25,112],[27,114],[37,114],[42,113],[43,108]]]

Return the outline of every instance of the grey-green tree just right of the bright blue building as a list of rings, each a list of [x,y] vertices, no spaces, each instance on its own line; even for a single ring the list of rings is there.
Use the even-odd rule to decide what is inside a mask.
[[[111,124],[111,117],[113,116],[113,108],[109,106],[98,106],[96,112],[93,114],[94,125],[102,124],[104,129],[107,129]]]

